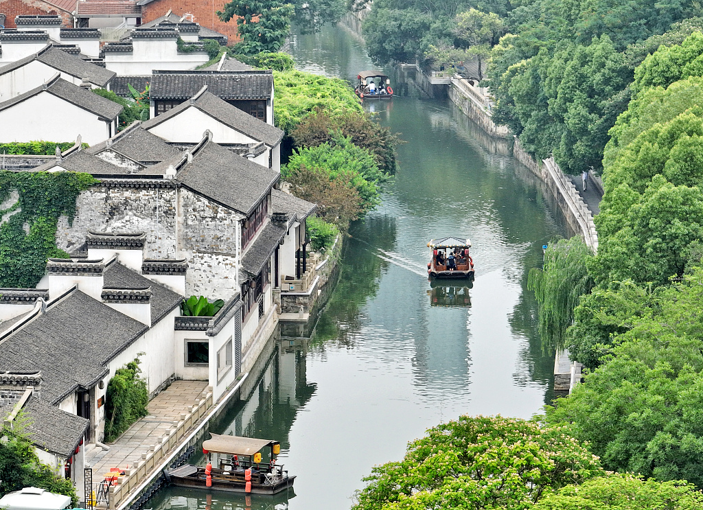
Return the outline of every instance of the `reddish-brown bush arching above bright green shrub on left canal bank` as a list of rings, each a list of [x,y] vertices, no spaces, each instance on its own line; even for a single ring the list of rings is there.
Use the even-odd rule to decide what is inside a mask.
[[[354,145],[370,151],[382,171],[391,175],[396,173],[398,136],[374,122],[368,114],[344,112],[335,117],[318,107],[293,129],[290,136],[297,147],[316,147],[331,142],[340,134],[350,137]]]

